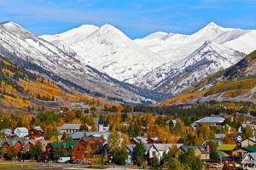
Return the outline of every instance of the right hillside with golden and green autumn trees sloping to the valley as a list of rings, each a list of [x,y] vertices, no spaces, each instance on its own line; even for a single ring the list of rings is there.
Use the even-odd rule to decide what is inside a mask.
[[[236,65],[202,79],[161,105],[216,101],[250,101],[256,103],[256,50]]]

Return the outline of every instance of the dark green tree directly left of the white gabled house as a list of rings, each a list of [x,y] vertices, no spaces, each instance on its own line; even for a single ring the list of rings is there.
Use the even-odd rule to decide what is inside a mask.
[[[144,144],[137,143],[133,151],[133,156],[138,167],[141,167],[143,165],[143,161],[145,161],[145,152],[146,147]]]

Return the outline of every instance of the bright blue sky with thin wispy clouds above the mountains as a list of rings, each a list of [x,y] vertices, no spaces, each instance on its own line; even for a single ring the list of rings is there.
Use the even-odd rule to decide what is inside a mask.
[[[38,35],[83,24],[113,25],[128,37],[154,31],[191,34],[214,21],[256,30],[256,0],[0,0],[0,21]]]

